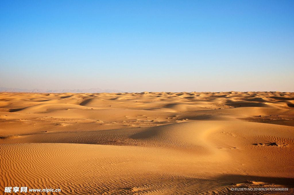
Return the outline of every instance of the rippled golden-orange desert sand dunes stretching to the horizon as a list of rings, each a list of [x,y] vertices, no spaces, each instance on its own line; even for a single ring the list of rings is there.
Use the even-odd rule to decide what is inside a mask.
[[[294,93],[0,93],[0,145],[1,195],[294,194]]]

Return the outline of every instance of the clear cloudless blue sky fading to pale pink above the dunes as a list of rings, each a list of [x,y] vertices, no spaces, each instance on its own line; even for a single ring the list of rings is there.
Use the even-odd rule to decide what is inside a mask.
[[[294,1],[0,1],[0,87],[294,92]]]

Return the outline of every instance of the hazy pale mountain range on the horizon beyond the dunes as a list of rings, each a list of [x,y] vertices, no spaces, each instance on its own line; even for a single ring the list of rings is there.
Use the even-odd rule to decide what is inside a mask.
[[[29,92],[29,93],[123,93],[123,91],[115,89],[91,88],[91,89],[57,89],[57,90],[44,90],[44,89],[18,89],[18,88],[5,88],[0,87],[0,92]]]

